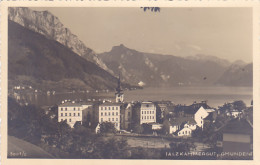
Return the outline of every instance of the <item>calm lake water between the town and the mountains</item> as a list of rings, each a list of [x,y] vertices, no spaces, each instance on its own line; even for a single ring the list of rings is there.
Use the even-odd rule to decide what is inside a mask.
[[[124,91],[125,101],[160,101],[169,100],[175,104],[190,105],[194,101],[207,100],[208,105],[217,108],[226,102],[243,100],[250,105],[253,99],[253,88],[251,87],[176,87],[176,88],[145,88],[142,90]],[[39,106],[51,106],[60,104],[62,100],[114,100],[114,92],[93,93],[57,93],[26,94],[19,96],[29,103]]]

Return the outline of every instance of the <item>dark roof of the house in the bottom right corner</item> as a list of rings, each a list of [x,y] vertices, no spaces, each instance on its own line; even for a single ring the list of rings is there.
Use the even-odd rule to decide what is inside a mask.
[[[223,133],[253,134],[253,127],[245,119],[233,119],[223,128]]]

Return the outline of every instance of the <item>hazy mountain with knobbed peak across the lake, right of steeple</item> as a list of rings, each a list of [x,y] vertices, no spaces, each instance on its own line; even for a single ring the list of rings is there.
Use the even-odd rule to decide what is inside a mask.
[[[125,81],[158,87],[216,85],[231,65],[229,61],[214,56],[182,58],[151,54],[129,49],[122,44],[99,56],[115,73],[119,70]],[[223,82],[221,85],[229,84]]]

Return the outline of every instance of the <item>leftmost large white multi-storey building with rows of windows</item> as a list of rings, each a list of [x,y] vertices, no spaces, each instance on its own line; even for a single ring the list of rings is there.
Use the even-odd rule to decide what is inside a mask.
[[[78,121],[82,123],[83,113],[86,108],[91,107],[90,103],[77,103],[77,102],[63,102],[58,106],[58,122],[67,121],[67,124],[73,128],[74,124]]]

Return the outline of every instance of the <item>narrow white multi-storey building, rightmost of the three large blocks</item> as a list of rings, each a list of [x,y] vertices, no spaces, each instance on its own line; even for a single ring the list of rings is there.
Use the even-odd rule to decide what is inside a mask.
[[[156,123],[156,106],[154,103],[142,102],[140,113],[140,124]]]

